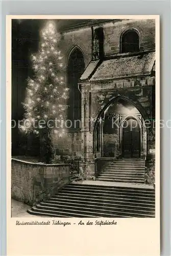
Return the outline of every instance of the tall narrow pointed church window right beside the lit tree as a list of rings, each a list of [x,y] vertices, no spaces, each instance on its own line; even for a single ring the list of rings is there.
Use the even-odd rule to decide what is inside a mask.
[[[75,48],[69,56],[67,70],[67,82],[70,89],[68,118],[72,121],[73,128],[81,128],[81,92],[78,89],[78,82],[84,68],[83,53],[79,48]]]

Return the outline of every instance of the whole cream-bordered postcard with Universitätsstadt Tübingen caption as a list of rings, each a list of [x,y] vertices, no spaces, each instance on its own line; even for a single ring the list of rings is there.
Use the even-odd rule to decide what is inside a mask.
[[[160,255],[159,15],[7,15],[7,254]]]

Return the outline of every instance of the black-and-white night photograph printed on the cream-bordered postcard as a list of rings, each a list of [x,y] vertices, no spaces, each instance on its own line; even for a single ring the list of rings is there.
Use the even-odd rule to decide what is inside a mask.
[[[11,217],[155,218],[156,19],[11,22]]]

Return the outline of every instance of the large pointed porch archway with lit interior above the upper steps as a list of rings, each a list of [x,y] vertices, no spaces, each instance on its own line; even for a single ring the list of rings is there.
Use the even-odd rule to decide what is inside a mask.
[[[148,133],[135,104],[119,97],[104,107],[101,118],[101,129],[96,123],[93,132],[95,158],[146,158]]]

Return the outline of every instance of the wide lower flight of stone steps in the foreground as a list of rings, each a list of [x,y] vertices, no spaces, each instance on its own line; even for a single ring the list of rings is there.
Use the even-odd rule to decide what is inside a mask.
[[[70,183],[48,201],[33,206],[28,212],[44,217],[155,217],[155,190],[137,186]]]

